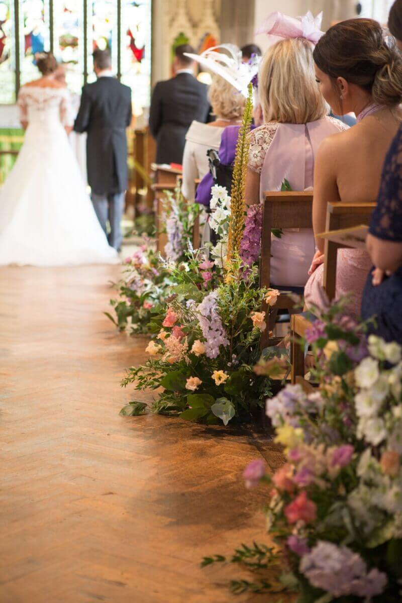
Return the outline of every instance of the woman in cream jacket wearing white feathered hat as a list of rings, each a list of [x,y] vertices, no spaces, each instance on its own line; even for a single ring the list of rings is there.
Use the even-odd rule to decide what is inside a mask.
[[[224,129],[241,123],[247,98],[243,79],[250,81],[253,77],[250,68],[242,63],[237,46],[223,44],[191,56],[213,71],[209,100],[215,120],[209,124],[193,121],[186,134],[181,190],[189,201],[195,197],[194,180],[204,178],[209,171],[207,151],[218,151]]]

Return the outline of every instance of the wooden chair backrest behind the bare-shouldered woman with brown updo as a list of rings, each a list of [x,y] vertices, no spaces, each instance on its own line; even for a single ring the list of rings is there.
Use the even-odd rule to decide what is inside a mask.
[[[375,203],[328,203],[325,230],[341,230],[362,224],[368,225]],[[322,286],[329,300],[333,300],[336,293],[336,264],[338,249],[351,247],[339,242],[325,239],[324,246],[324,276]]]

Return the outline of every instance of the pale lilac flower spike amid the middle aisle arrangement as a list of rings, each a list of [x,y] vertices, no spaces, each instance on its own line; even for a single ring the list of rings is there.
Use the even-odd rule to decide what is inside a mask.
[[[205,353],[208,358],[216,358],[219,355],[219,347],[229,345],[227,333],[218,314],[217,295],[216,291],[211,291],[196,308],[199,327],[205,339]]]

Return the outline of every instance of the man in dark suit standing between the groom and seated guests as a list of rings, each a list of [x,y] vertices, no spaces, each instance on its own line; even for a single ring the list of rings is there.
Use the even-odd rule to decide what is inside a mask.
[[[175,77],[159,81],[152,94],[149,130],[157,141],[157,163],[181,163],[191,122],[206,123],[209,118],[207,86],[193,76],[194,62],[184,52],[195,53],[189,44],[177,46]]]

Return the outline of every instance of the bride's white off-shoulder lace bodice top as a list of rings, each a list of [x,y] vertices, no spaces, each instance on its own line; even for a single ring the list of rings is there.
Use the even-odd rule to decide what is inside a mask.
[[[20,121],[28,124],[58,122],[68,126],[74,123],[71,96],[66,88],[22,86],[17,104]]]

